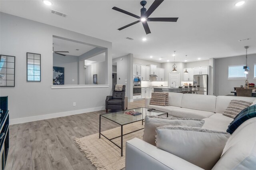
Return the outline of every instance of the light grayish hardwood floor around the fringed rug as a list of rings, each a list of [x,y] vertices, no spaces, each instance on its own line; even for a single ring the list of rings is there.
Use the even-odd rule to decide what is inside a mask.
[[[144,106],[144,100],[128,103],[128,109]],[[95,170],[74,138],[98,133],[102,113],[105,111],[10,125],[6,170]],[[117,126],[102,121],[102,129]]]

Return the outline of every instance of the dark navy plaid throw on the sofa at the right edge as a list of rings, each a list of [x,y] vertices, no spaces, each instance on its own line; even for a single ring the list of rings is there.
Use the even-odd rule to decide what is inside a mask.
[[[256,117],[256,105],[247,107],[236,115],[234,120],[228,125],[227,132],[232,134],[242,123],[253,117]]]

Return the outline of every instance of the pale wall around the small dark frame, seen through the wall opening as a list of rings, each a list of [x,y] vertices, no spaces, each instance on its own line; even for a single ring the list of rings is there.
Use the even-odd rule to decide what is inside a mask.
[[[105,76],[104,73],[106,71],[106,62],[100,62],[100,63],[92,63],[91,65],[88,65],[85,71],[85,84],[86,85],[92,85],[93,84],[93,75],[97,74],[97,82],[98,85],[104,85],[105,84]]]

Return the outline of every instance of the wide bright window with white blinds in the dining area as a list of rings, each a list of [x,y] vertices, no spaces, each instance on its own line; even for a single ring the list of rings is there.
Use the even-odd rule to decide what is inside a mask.
[[[244,78],[246,78],[246,74],[244,73],[244,65],[228,66],[228,78],[229,79],[244,79]]]

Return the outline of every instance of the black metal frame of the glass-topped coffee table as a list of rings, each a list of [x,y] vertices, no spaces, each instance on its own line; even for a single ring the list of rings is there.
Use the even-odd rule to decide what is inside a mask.
[[[141,107],[138,107],[138,108],[135,108],[135,109],[139,109],[139,108],[141,108]],[[146,107],[144,107],[144,108],[146,108]],[[149,108],[146,108],[146,109],[149,109]],[[128,110],[132,110],[132,109],[128,109]],[[125,111],[127,111],[127,110],[125,110]],[[125,112],[125,111],[123,111],[123,112]],[[155,110],[155,111],[158,111],[158,110]],[[161,112],[163,112],[163,111],[161,111]],[[115,113],[115,112],[112,112],[112,113]],[[111,114],[111,113],[104,113],[104,114],[101,114],[101,115],[100,115],[100,125],[101,125],[101,117],[102,117],[102,115],[106,115],[106,114]],[[125,114],[125,113],[124,113],[124,114]],[[166,116],[168,117],[168,112],[164,112],[163,114],[160,114],[160,115],[166,115]],[[160,115],[158,115],[158,116],[160,116]],[[133,115],[130,115],[130,116],[133,116]],[[108,119],[108,118],[106,118],[106,117],[104,117],[104,118],[105,118],[105,119]],[[104,136],[106,139],[108,139],[110,142],[112,142],[114,145],[116,145],[118,148],[121,149],[121,156],[123,156],[123,136],[126,135],[126,134],[130,134],[130,133],[132,133],[132,132],[136,132],[136,131],[138,131],[138,130],[144,129],[144,128],[140,128],[140,129],[138,129],[138,130],[134,130],[134,131],[132,131],[132,132],[123,134],[123,126],[124,126],[124,125],[128,125],[128,124],[131,124],[131,123],[139,122],[139,121],[142,121],[142,125],[143,125],[144,119],[143,119],[143,117],[142,117],[142,120],[138,120],[138,121],[126,123],[126,124],[124,124],[124,125],[121,125],[120,123],[117,123],[117,122],[115,122],[115,121],[113,121],[113,120],[111,120],[111,119],[108,119],[108,120],[110,120],[110,121],[112,121],[112,122],[114,122],[114,123],[116,123],[116,124],[118,124],[118,125],[121,126],[121,135],[120,135],[120,136],[116,136],[116,137],[114,137],[114,138],[108,138],[108,137],[106,137],[104,134],[102,134],[101,131],[99,130],[99,131],[100,131],[100,132],[99,132],[99,138],[100,138],[100,135]],[[113,139],[116,139],[116,138],[119,138],[119,137],[121,137],[121,147],[118,146],[118,144],[116,144],[115,142],[112,141]]]

